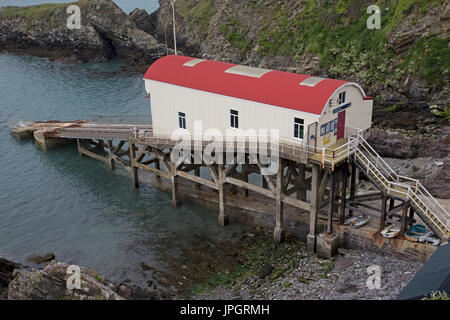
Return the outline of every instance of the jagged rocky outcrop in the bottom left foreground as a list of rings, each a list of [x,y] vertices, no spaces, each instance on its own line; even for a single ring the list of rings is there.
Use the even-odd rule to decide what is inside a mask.
[[[9,283],[9,300],[149,300],[154,297],[136,286],[116,285],[99,273],[80,267],[80,288],[69,289],[73,283],[69,265],[52,261],[43,269],[16,270]]]

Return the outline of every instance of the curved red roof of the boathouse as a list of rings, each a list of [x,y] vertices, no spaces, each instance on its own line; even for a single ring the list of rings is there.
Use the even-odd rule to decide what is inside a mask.
[[[318,115],[337,89],[350,84],[347,81],[324,79],[310,87],[300,83],[311,76],[281,71],[270,71],[260,78],[237,75],[225,72],[235,64],[208,60],[192,67],[184,66],[194,59],[165,56],[150,66],[144,79]],[[362,89],[361,93],[365,97]]]

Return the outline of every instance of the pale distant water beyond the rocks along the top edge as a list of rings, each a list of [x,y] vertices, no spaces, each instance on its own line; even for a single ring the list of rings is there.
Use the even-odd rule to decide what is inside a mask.
[[[74,2],[75,0],[0,0],[0,7],[2,6],[31,6],[34,4],[41,3],[64,3],[64,2]],[[148,13],[152,13],[158,9],[158,0],[114,0],[119,7],[125,12],[129,13],[135,8],[146,9]]]

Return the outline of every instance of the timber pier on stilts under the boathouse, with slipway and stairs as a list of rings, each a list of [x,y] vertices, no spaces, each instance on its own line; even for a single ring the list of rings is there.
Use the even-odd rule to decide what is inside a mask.
[[[178,141],[172,141],[169,136],[154,135],[151,125],[37,122],[15,128],[11,134],[18,139],[34,136],[44,149],[76,143],[80,155],[100,160],[112,170],[116,165],[127,168],[134,188],[139,187],[140,171],[151,173],[170,186],[173,205],[180,203],[180,179],[183,183],[191,183],[194,190],[210,190],[218,197],[218,223],[222,226],[229,221],[229,203],[237,194],[241,199],[240,206],[246,208],[257,207],[248,198],[249,194],[262,196],[273,203],[275,242],[284,240],[285,209],[289,208],[308,221],[307,235],[301,237],[307,239],[309,250],[324,256],[335,253],[342,241],[345,221],[360,213],[379,221],[378,234],[387,224],[398,223],[401,227],[398,238],[403,239],[408,227],[420,219],[442,242],[447,242],[450,235],[448,212],[420,182],[396,175],[360,134],[342,139],[328,149],[280,141],[278,169],[271,174],[266,173],[266,166],[250,159],[251,151],[254,151],[250,143],[244,144],[245,164],[237,163],[236,155],[234,161],[225,164],[207,163],[198,159],[195,150],[180,157],[179,150],[174,148]],[[191,145],[201,151],[209,143],[209,140],[191,141]],[[225,152],[223,158],[226,158]],[[208,177],[200,175],[201,168]],[[378,192],[358,195],[360,173]],[[249,182],[249,176],[255,174],[260,177],[261,184]],[[249,201],[245,203],[242,197]],[[373,206],[373,201],[381,202],[381,206]],[[325,230],[319,226],[319,212],[324,209]],[[321,230],[324,232],[319,233]]]

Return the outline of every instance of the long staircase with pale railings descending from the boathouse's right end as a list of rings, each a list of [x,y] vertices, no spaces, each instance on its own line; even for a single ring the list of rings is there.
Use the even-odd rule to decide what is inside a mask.
[[[378,155],[359,132],[349,138],[358,167],[386,195],[408,201],[415,212],[442,242],[450,237],[450,215],[416,179],[400,176]]]

